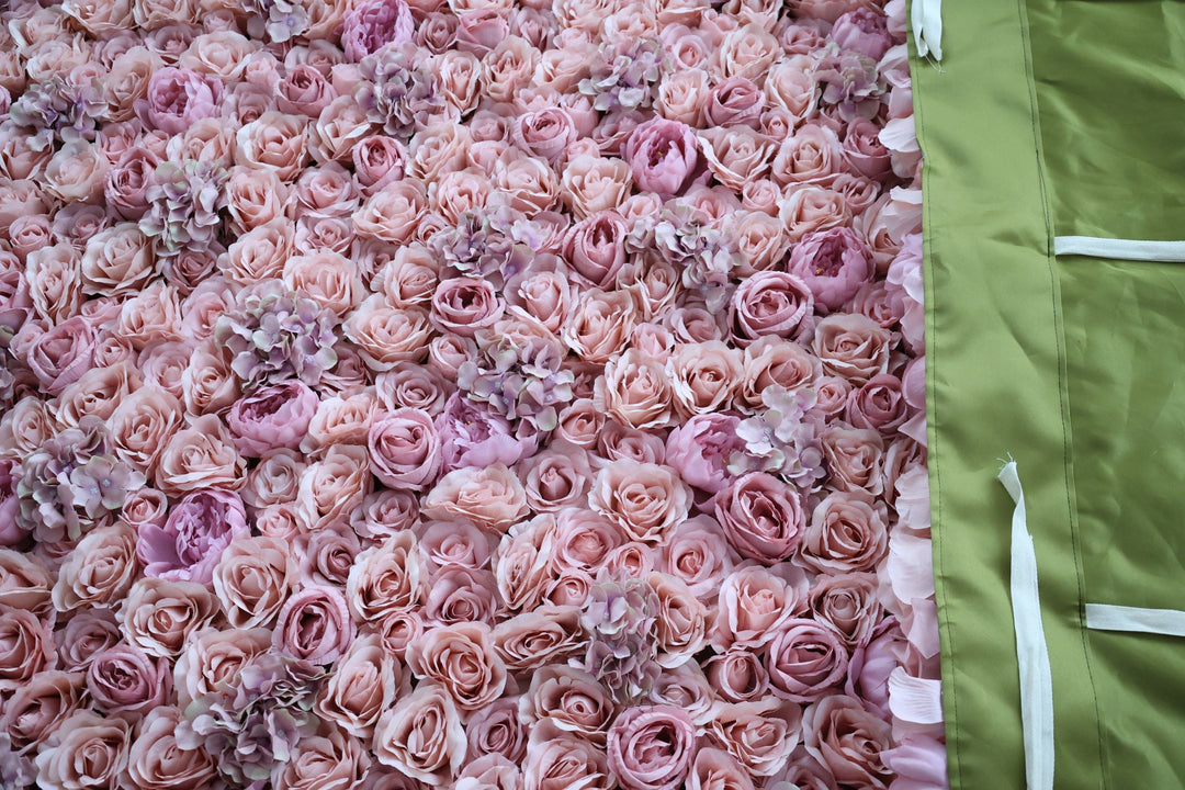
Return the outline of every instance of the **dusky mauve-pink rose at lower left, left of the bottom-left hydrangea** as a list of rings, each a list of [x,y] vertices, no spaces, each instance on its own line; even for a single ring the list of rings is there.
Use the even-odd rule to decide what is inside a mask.
[[[109,715],[143,715],[168,701],[173,676],[168,661],[121,644],[95,656],[87,669],[91,702]]]

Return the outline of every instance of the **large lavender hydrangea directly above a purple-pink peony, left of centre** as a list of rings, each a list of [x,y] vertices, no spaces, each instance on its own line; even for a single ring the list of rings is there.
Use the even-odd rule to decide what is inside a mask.
[[[338,362],[337,325],[332,310],[278,280],[267,280],[239,294],[236,307],[218,316],[214,339],[248,390],[292,377],[315,386]]]

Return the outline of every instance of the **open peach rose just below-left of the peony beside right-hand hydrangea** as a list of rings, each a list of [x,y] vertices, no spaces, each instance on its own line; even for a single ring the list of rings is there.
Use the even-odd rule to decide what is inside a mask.
[[[664,545],[687,518],[690,492],[674,470],[655,463],[614,461],[596,476],[589,506],[632,540]]]

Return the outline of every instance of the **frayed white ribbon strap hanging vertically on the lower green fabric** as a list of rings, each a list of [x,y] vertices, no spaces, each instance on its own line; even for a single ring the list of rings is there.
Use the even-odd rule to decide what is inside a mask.
[[[1017,462],[1000,470],[1012,501],[1012,622],[1017,631],[1020,666],[1020,722],[1025,740],[1025,777],[1029,790],[1053,786],[1053,681],[1045,648],[1037,595],[1037,553],[1025,521],[1025,494]]]

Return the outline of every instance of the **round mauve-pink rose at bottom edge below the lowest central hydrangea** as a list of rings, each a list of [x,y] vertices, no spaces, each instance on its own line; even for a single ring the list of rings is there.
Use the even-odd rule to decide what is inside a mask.
[[[608,752],[626,790],[675,790],[696,759],[696,725],[670,705],[629,708],[609,728]]]

